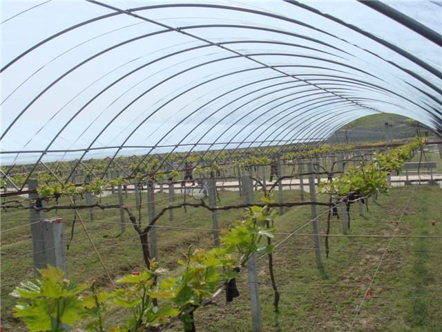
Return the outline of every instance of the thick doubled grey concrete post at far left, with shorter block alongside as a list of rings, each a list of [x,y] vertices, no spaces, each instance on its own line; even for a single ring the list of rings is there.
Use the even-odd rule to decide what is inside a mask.
[[[31,179],[28,182],[29,189],[36,189],[38,182]],[[35,200],[37,207],[42,207],[38,194],[31,193],[29,198]],[[45,212],[30,210],[30,230],[32,237],[32,249],[34,260],[34,272],[38,268],[46,268],[48,265],[57,266],[66,273],[66,257],[64,255],[63,223],[45,220]]]

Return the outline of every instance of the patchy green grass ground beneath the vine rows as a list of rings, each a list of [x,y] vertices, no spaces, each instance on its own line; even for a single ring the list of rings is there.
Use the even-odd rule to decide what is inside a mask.
[[[256,193],[256,201],[258,201]],[[411,196],[411,198],[410,198]],[[299,192],[285,191],[285,200],[299,201]],[[308,197],[308,194],[306,195]],[[442,190],[436,186],[397,188],[380,195],[378,201],[369,200],[369,212],[358,216],[357,206],[352,206],[352,228],[349,234],[438,234],[442,229]],[[220,192],[220,205],[238,203],[238,192]],[[167,194],[156,194],[157,209],[167,204]],[[181,201],[180,195],[176,196]],[[321,199],[325,199],[322,197]],[[394,221],[400,219],[410,199],[397,231]],[[115,196],[107,196],[104,203],[115,202]],[[125,199],[126,205],[134,205],[133,195]],[[142,220],[146,221],[146,196],[142,199]],[[134,209],[133,209],[134,210]],[[324,212],[325,208],[320,208]],[[70,236],[73,212],[59,213],[65,220],[65,239]],[[226,226],[240,217],[242,211],[220,212],[220,226]],[[374,275],[388,239],[365,237],[331,237],[330,255],[325,258],[324,239],[323,270],[318,270],[312,250],[310,208],[291,208],[278,217],[278,232],[291,232],[305,225],[298,235],[279,246],[274,252],[274,269],[281,291],[280,313],[273,312],[273,292],[267,271],[267,257],[258,261],[260,304],[263,331],[348,331],[355,316],[355,308],[361,302],[367,284]],[[51,212],[50,216],[55,216]],[[81,215],[88,220],[88,212]],[[2,231],[25,227],[1,234],[1,320],[8,331],[20,331],[21,324],[11,318],[12,299],[8,293],[20,279],[32,275],[32,247],[28,211],[2,212]],[[142,254],[136,232],[130,225],[120,237],[117,210],[96,212],[97,221],[85,221],[93,236],[104,263],[113,279],[125,272],[142,268]],[[325,231],[325,216],[320,218],[320,230]],[[436,220],[435,227],[430,225]],[[306,225],[307,223],[307,225]],[[211,214],[202,209],[174,210],[174,219],[165,214],[159,225],[185,228],[210,228]],[[176,260],[189,245],[201,248],[213,246],[211,232],[184,231],[158,228],[160,262],[175,273]],[[340,219],[332,219],[331,234],[342,234]],[[278,243],[285,235],[277,234]],[[374,298],[365,302],[356,317],[353,331],[441,331],[442,315],[442,239],[393,239],[374,279]],[[108,285],[106,275],[88,243],[84,231],[77,224],[70,249],[66,251],[68,274],[71,279],[85,281],[97,279]],[[218,297],[214,305],[200,308],[195,315],[198,331],[250,331],[250,303],[247,287],[247,271],[238,278],[241,296],[232,304]],[[417,299],[416,299],[417,298]],[[124,315],[116,312],[108,322],[118,322]],[[169,331],[182,331],[172,326]]]

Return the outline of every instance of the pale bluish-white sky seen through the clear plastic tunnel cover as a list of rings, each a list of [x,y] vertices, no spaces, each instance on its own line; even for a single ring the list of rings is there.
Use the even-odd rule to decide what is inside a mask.
[[[112,15],[11,64],[55,33],[115,11],[87,1],[1,1],[1,67],[10,66],[0,73],[0,163],[318,140],[378,112],[434,126],[440,93],[403,69],[439,89],[441,80],[390,48],[284,1],[210,3],[229,8],[137,10],[145,20]],[[302,3],[442,71],[439,46],[357,1]],[[441,33],[441,1],[387,4]],[[74,151],[81,149],[91,150]]]

